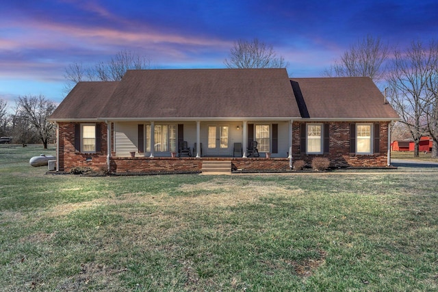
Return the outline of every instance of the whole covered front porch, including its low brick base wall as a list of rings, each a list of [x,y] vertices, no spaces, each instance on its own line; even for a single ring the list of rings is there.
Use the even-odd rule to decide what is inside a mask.
[[[229,172],[290,169],[291,120],[112,121],[107,135],[114,173],[196,173],[205,161],[229,161]],[[188,151],[180,152],[183,142]]]

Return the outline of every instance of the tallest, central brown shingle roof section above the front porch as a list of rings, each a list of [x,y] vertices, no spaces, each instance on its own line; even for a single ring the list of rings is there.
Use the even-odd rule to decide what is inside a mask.
[[[128,70],[101,118],[298,117],[285,69]]]

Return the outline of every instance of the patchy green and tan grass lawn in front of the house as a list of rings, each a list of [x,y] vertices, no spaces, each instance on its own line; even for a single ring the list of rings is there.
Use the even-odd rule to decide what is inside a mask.
[[[81,177],[43,152],[0,145],[0,291],[438,290],[436,172]]]

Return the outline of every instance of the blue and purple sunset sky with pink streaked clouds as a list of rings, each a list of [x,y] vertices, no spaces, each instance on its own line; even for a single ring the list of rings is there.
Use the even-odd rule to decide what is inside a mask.
[[[233,42],[259,40],[293,77],[319,77],[368,34],[390,47],[438,39],[438,1],[3,0],[0,98],[64,98],[74,62],[106,62],[121,50],[155,68],[224,68]]]

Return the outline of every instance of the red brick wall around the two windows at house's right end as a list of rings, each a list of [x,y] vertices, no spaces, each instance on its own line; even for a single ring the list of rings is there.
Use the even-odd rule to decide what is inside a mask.
[[[335,167],[384,167],[387,166],[388,122],[380,122],[380,152],[372,155],[356,155],[350,153],[350,124],[351,122],[329,123],[329,154],[307,155],[300,150],[300,128],[302,122],[292,124],[292,157],[311,163],[313,157],[327,157],[331,166]]]

